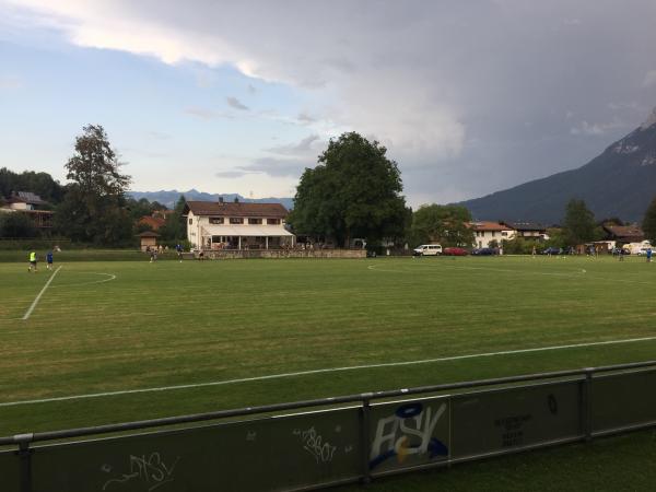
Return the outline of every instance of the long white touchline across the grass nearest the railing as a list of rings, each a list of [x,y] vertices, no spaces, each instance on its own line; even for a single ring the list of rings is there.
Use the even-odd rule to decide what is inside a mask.
[[[382,364],[351,365],[351,366],[347,366],[347,367],[326,367],[326,368],[312,370],[312,371],[298,371],[296,373],[270,374],[268,376],[253,376],[253,377],[242,377],[238,379],[215,380],[215,382],[211,382],[211,383],[195,383],[195,384],[177,385],[177,386],[161,386],[161,387],[156,387],[156,388],[125,389],[125,390],[120,390],[120,391],[106,391],[106,393],[93,393],[93,394],[87,394],[87,395],[72,395],[72,396],[56,397],[56,398],[42,398],[38,400],[5,401],[5,402],[0,402],[0,408],[1,407],[15,407],[19,405],[49,403],[52,401],[81,400],[81,399],[87,399],[87,398],[102,398],[102,397],[120,396],[120,395],[134,395],[134,394],[139,394],[139,393],[154,393],[154,391],[169,391],[169,390],[175,390],[175,389],[202,388],[202,387],[207,387],[207,386],[222,386],[222,385],[231,385],[231,384],[236,384],[236,383],[250,383],[250,382],[255,382],[255,380],[281,379],[284,377],[308,376],[312,374],[321,374],[321,373],[336,373],[336,372],[343,372],[343,371],[358,371],[358,370],[377,368],[377,367],[398,367],[401,365],[431,364],[431,363],[435,363],[435,362],[461,361],[464,359],[491,358],[491,356],[495,356],[495,355],[513,355],[516,353],[544,352],[548,350],[576,349],[576,348],[582,348],[582,347],[610,345],[610,344],[616,344],[616,343],[634,343],[634,342],[640,342],[640,341],[653,341],[653,340],[656,340],[656,336],[644,337],[644,338],[630,338],[630,339],[625,339],[625,340],[607,340],[607,341],[601,341],[601,342],[573,343],[570,345],[539,347],[536,349],[504,350],[502,352],[475,353],[475,354],[468,354],[468,355],[453,355],[453,356],[448,356],[448,358],[424,359],[421,361],[387,362],[387,363],[382,363]]]

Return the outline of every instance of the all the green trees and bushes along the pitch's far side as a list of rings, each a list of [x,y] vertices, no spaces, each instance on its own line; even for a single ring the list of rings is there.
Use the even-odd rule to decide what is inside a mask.
[[[90,245],[131,246],[136,235],[148,229],[137,224],[139,218],[166,207],[127,197],[131,177],[121,173],[122,165],[105,129],[87,125],[77,137],[73,155],[65,165],[67,185],[60,185],[47,173],[16,174],[3,167],[0,197],[17,190],[35,192],[56,212],[55,234]],[[338,246],[349,246],[354,238],[365,238],[370,247],[383,241],[398,246],[431,242],[462,247],[473,244],[469,210],[433,203],[413,211],[402,190],[401,173],[398,164],[387,157],[387,149],[358,132],[347,132],[329,141],[315,167],[305,168],[288,224],[297,235],[330,238]],[[185,198],[180,197],[173,213],[166,214],[165,224],[157,230],[162,242],[186,238],[184,207]],[[600,223],[595,222],[583,200],[567,203],[562,225],[549,232],[550,245],[577,245],[602,237]],[[656,198],[642,225],[646,236],[656,239]],[[0,236],[36,234],[23,214],[0,214]],[[522,237],[504,244],[508,253],[527,253],[531,246]]]

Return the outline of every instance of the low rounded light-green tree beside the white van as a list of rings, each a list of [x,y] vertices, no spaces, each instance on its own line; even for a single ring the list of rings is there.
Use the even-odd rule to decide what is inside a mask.
[[[471,214],[465,207],[422,206],[412,218],[412,243],[438,242],[443,246],[469,247],[473,244],[473,231],[468,227],[469,222]]]

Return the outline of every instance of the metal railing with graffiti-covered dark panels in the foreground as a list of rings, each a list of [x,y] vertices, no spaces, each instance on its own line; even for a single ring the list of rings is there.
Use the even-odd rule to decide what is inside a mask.
[[[61,469],[66,468],[70,456],[75,456],[75,465],[71,462],[70,466],[71,470],[77,469],[78,478],[70,480],[85,483],[84,490],[92,490],[90,484],[94,481],[103,482],[103,490],[118,490],[118,483],[124,481],[155,480],[145,475],[145,465],[143,468],[134,465],[136,456],[148,455],[152,465],[155,455],[160,462],[168,453],[185,461],[187,471],[181,470],[181,465],[176,468],[179,470],[175,477],[177,483],[200,480],[202,487],[210,488],[209,477],[207,483],[199,478],[203,466],[198,464],[209,458],[197,455],[194,447],[187,455],[184,453],[188,446],[185,440],[192,438],[194,442],[207,441],[208,456],[216,461],[224,460],[225,455],[221,446],[214,448],[214,440],[235,449],[233,459],[236,462],[255,460],[265,466],[262,464],[273,459],[272,456],[278,459],[278,455],[271,453],[274,447],[282,446],[280,453],[285,455],[285,462],[296,466],[294,473],[297,477],[262,470],[261,480],[253,477],[242,479],[246,482],[229,476],[232,470],[229,467],[229,475],[222,483],[233,483],[234,490],[311,490],[347,482],[368,482],[374,477],[390,473],[589,441],[595,436],[653,426],[656,424],[656,396],[651,396],[656,391],[653,389],[656,389],[656,361],[17,434],[0,437],[0,446],[17,447],[12,452],[17,459],[14,457],[12,460],[8,453],[0,453],[0,476],[10,470],[8,475],[14,477],[16,491],[54,490],[44,489],[42,484],[54,487],[57,477],[61,480]],[[618,398],[624,403],[621,411],[614,403]],[[315,410],[308,412],[309,409]],[[303,410],[305,412],[297,412]],[[259,419],[244,419],[253,415]],[[234,418],[239,419],[225,422]],[[103,434],[154,431],[202,422],[212,423],[97,438]],[[259,441],[257,447],[249,446],[262,434],[269,435],[270,441],[263,444]],[[81,442],[61,442],[92,436],[93,440]],[[57,443],[35,445],[52,441]],[[129,453],[128,448],[131,449]],[[133,448],[141,452],[134,454]],[[155,448],[159,450],[149,450]],[[128,454],[130,458],[127,461],[132,471],[110,478],[107,470],[116,468],[118,465],[115,464]],[[96,458],[91,458],[96,455],[97,462],[93,460]],[[80,457],[84,457],[82,461],[87,465],[82,467],[86,470],[82,473]],[[55,465],[46,466],[46,458]],[[298,466],[305,460],[313,467]],[[39,471],[35,471],[35,462]],[[102,473],[101,469],[109,475]],[[157,477],[164,476],[163,469],[159,469]],[[168,478],[174,483],[166,490],[177,490],[173,469],[171,472]],[[99,478],[96,477],[98,473]],[[11,487],[11,480],[9,483]]]

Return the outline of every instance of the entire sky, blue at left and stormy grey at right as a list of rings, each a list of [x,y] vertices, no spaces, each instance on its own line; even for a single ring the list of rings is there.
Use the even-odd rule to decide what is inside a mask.
[[[0,0],[0,166],[101,124],[132,189],[293,196],[330,138],[421,203],[578,167],[656,106],[653,0]]]

